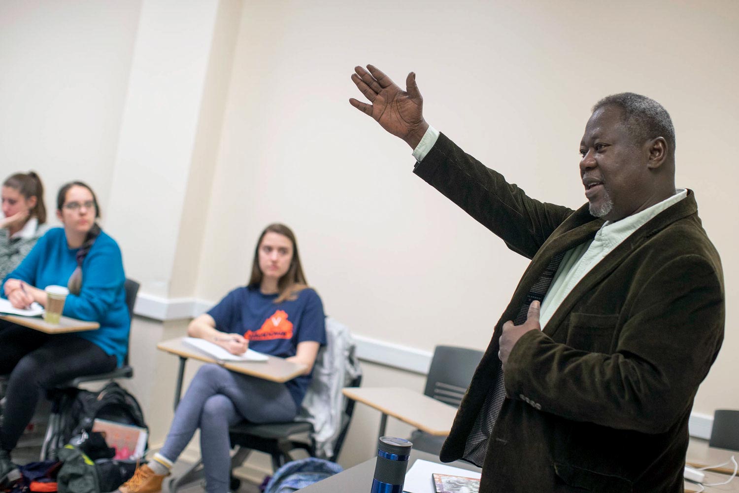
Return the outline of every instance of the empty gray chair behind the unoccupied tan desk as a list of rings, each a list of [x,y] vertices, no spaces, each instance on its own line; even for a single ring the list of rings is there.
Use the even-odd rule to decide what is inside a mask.
[[[482,351],[466,347],[435,347],[423,394],[454,407],[460,407],[474,369],[482,358]],[[446,437],[429,435],[417,429],[412,432],[409,440],[413,442],[413,449],[439,455]]]

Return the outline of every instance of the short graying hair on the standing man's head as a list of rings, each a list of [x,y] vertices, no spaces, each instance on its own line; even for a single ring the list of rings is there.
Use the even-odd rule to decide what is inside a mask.
[[[657,101],[633,92],[621,92],[598,101],[592,111],[596,112],[604,106],[621,109],[622,120],[634,140],[641,143],[655,137],[664,137],[668,152],[675,152],[675,127],[672,126],[672,118],[667,109]]]

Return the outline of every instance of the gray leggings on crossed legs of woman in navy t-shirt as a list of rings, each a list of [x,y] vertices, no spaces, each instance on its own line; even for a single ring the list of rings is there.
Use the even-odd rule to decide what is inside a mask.
[[[177,406],[159,453],[174,463],[200,428],[206,491],[226,493],[231,466],[228,427],[244,419],[253,423],[292,421],[297,412],[285,384],[206,364],[198,370]]]

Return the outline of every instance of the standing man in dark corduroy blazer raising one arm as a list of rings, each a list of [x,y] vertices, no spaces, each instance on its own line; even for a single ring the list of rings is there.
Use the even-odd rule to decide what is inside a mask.
[[[441,450],[483,467],[480,492],[683,491],[688,418],[723,340],[721,260],[675,131],[633,93],[593,106],[580,142],[588,203],[527,197],[423,119],[406,90],[355,67],[350,99],[414,149],[415,174],[531,259]]]

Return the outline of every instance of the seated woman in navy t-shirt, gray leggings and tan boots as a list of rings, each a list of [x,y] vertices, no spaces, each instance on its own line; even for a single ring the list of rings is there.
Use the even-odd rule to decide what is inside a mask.
[[[244,419],[265,423],[295,418],[326,334],[321,299],[307,287],[290,228],[272,224],[262,231],[249,284],[232,290],[208,313],[194,319],[188,335],[212,341],[233,354],[251,347],[287,358],[304,364],[305,372],[278,384],[216,364],[204,365],[177,406],[160,452],[148,466],[140,466],[118,493],[160,492],[172,463],[198,428],[205,491],[228,492],[228,427]]]

